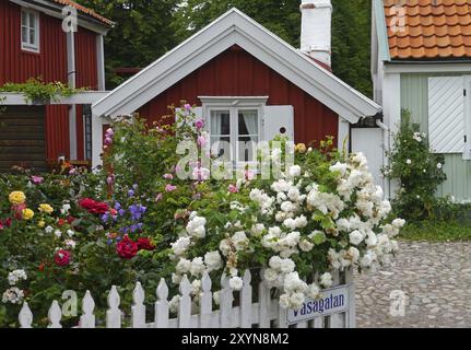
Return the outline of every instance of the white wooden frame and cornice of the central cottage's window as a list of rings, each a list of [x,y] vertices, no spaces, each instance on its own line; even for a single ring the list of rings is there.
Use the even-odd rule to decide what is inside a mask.
[[[236,168],[244,168],[247,165],[256,165],[257,161],[240,161],[238,150],[238,110],[257,110],[258,116],[258,141],[263,140],[263,108],[267,105],[268,96],[199,96],[202,102],[203,118],[211,142],[211,112],[229,110],[231,118],[231,145],[234,155],[233,163]]]

